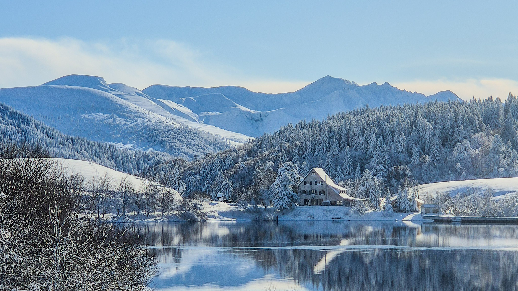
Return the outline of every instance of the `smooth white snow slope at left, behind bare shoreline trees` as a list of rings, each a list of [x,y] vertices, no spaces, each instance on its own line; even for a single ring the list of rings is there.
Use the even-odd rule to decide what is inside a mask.
[[[92,180],[94,177],[102,178],[107,175],[107,177],[111,181],[111,185],[116,187],[119,182],[123,179],[130,182],[133,185],[135,190],[143,190],[147,184],[153,184],[156,186],[164,187],[155,182],[146,180],[144,178],[140,178],[137,176],[133,176],[131,174],[119,172],[116,170],[112,170],[105,166],[101,166],[92,162],[87,161],[79,161],[78,159],[68,159],[68,158],[48,158],[50,161],[54,162],[57,166],[65,169],[67,174],[79,173],[84,177],[85,180]],[[167,187],[166,187],[167,188]],[[169,189],[169,188],[167,188]],[[171,189],[172,190],[172,189]],[[178,200],[182,200],[180,194],[175,190],[172,190],[175,193],[175,198]]]

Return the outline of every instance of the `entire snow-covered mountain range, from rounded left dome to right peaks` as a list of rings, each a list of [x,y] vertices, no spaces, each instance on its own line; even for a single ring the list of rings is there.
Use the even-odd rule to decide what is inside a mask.
[[[238,86],[151,85],[140,91],[86,75],[0,89],[1,103],[67,135],[184,157],[222,150],[226,143],[244,143],[290,122],[320,120],[366,104],[377,107],[457,98],[450,91],[427,97],[389,83],[360,86],[330,76],[281,94],[256,93]]]

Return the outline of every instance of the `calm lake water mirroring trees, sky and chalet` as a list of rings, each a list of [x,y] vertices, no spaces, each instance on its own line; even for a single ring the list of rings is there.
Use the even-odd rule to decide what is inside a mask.
[[[518,290],[518,226],[209,222],[142,226],[157,290]]]

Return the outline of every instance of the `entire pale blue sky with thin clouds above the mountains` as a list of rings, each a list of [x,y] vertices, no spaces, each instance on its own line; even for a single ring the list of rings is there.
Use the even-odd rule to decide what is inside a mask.
[[[5,1],[0,86],[89,74],[294,91],[325,75],[463,98],[518,92],[517,2]]]

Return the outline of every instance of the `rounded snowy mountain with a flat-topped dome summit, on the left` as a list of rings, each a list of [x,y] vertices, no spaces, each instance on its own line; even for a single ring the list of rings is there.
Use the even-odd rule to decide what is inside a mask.
[[[228,148],[221,138],[192,129],[149,97],[103,78],[65,76],[39,86],[0,89],[0,102],[61,132],[117,146],[193,157]],[[166,115],[166,116],[164,116]],[[234,135],[234,133],[232,133]]]

